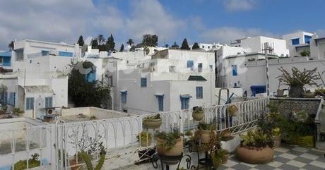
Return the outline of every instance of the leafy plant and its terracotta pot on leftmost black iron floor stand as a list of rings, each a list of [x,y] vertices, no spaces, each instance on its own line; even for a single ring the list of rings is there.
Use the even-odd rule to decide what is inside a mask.
[[[183,152],[183,139],[179,132],[160,132],[155,135],[157,138],[157,152],[165,156],[179,156]]]

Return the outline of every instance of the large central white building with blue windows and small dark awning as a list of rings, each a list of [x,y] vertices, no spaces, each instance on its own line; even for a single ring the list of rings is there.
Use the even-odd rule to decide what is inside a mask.
[[[147,114],[215,104],[213,52],[165,49],[136,66],[114,67],[115,109]]]

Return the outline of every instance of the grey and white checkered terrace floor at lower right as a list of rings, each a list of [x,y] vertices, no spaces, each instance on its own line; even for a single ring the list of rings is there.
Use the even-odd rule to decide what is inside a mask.
[[[245,164],[240,162],[235,155],[228,159],[227,164],[221,165],[218,170],[324,170],[325,157],[323,151],[297,145],[281,145],[275,149],[273,162],[268,164]]]

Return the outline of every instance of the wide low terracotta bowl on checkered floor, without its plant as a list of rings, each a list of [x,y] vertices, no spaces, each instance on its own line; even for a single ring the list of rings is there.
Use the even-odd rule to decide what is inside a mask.
[[[247,148],[247,147],[237,147],[236,148],[237,157],[242,161],[249,164],[266,164],[273,160],[273,150],[271,147],[262,148]]]

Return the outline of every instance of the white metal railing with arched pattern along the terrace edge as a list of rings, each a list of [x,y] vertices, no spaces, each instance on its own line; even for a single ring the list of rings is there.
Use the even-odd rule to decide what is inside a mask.
[[[229,129],[232,133],[240,133],[256,126],[259,116],[267,111],[267,103],[267,98],[259,98],[204,107],[205,121],[215,123],[218,131]],[[238,108],[237,116],[230,116],[227,111],[232,105]],[[159,130],[179,130],[181,133],[194,130],[198,122],[192,119],[191,114],[191,109],[160,113],[162,126]],[[14,168],[16,162],[30,159],[35,153],[40,155],[44,169],[70,169],[71,166],[76,166],[70,164],[70,160],[75,158],[74,155],[89,149],[90,145],[93,145],[93,159],[97,160],[100,144],[106,148],[107,159],[119,155],[133,164],[139,159],[138,150],[145,148],[140,147],[136,136],[143,130],[143,118],[152,115],[30,126],[20,131],[0,131],[0,169]],[[153,133],[153,130],[149,131]],[[78,157],[76,162],[82,164]]]

